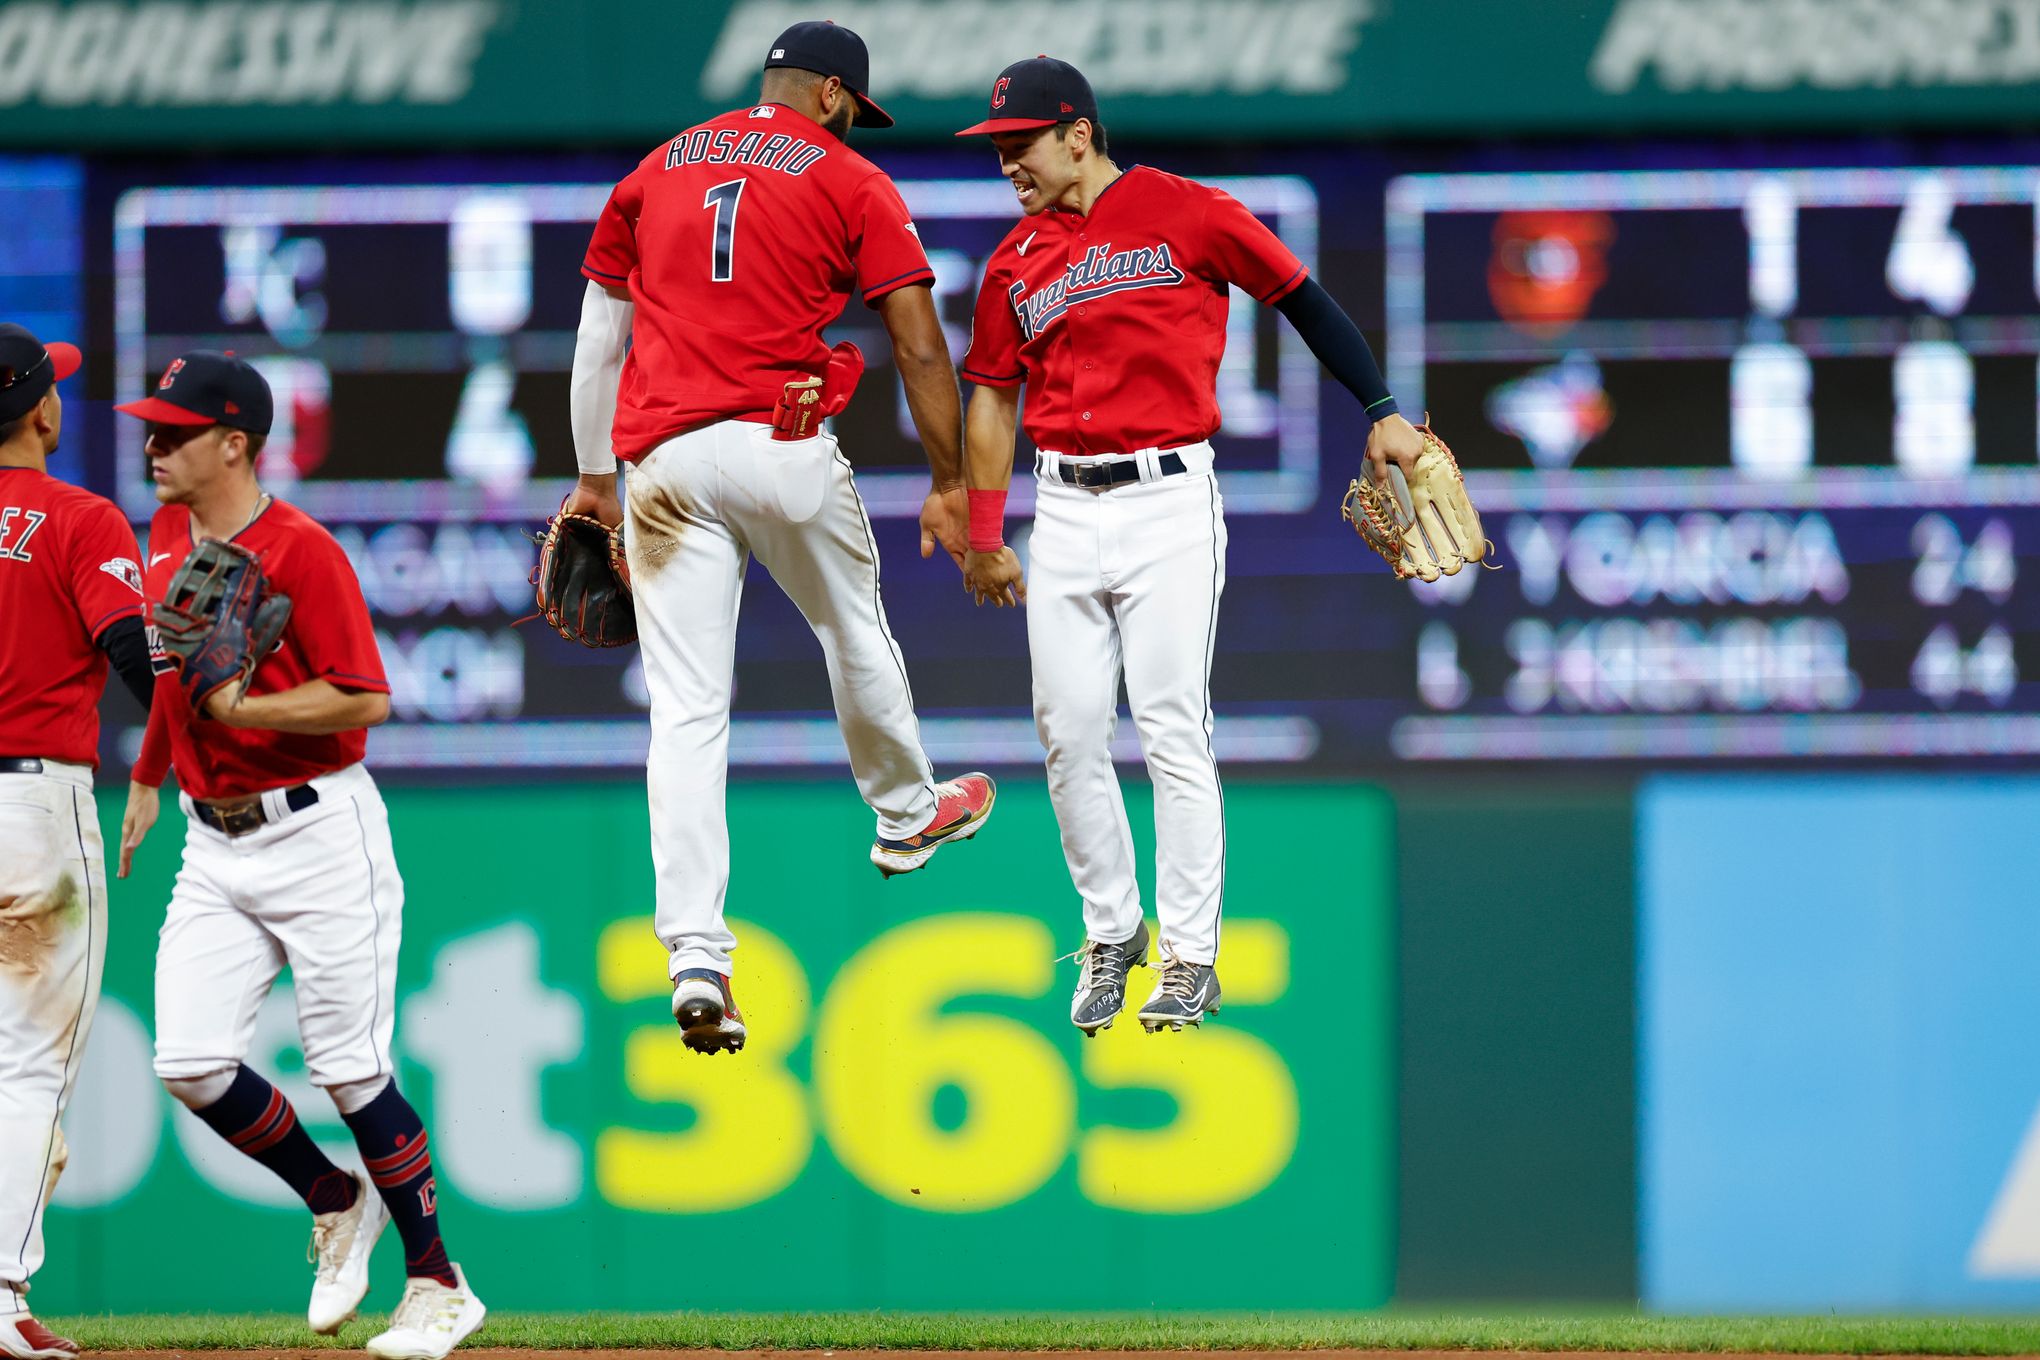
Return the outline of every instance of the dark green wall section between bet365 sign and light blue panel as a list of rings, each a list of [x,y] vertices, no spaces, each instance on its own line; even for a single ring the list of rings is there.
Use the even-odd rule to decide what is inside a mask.
[[[1632,787],[1408,781],[1395,812],[1395,1293],[1632,1301]]]

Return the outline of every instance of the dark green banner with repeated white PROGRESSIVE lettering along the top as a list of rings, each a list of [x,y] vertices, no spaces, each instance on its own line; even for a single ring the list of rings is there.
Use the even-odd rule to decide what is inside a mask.
[[[1042,51],[1142,137],[2040,116],[2032,0],[4,0],[0,145],[649,143],[824,16],[869,41],[904,137],[981,118]]]

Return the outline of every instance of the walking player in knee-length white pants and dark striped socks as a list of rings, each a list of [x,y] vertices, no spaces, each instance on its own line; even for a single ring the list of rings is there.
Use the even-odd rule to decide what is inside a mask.
[[[120,834],[124,877],[155,824],[157,785],[175,769],[190,826],[155,956],[155,1073],[312,1211],[312,1329],[333,1333],[355,1315],[375,1238],[394,1219],[404,1299],[367,1350],[441,1360],[486,1309],[447,1260],[424,1126],[392,1081],[404,881],[390,816],[361,767],[367,728],[390,716],[361,585],[333,534],[255,481],[271,396],[249,363],[192,351],[153,396],[116,410],[149,422],[149,471],[163,502],[143,573],[151,604],[200,538],[253,551],[269,585],[294,601],[247,693],[228,687],[204,714],[157,655]],[[286,962],[306,1070],[353,1132],[367,1176],[326,1160],[290,1101],[243,1064],[257,1007]]]

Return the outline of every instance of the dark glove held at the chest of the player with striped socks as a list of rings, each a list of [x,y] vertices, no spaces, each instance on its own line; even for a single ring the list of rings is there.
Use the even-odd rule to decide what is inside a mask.
[[[239,697],[261,659],[275,650],[290,622],[290,595],[269,589],[247,548],[202,538],[169,577],[149,622],[175,659],[186,701],[204,714],[206,699],[226,687]]]

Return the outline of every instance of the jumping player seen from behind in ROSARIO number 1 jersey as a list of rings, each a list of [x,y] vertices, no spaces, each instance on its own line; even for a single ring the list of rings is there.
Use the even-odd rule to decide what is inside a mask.
[[[820,424],[863,367],[855,347],[822,345],[857,294],[885,322],[934,473],[922,557],[940,542],[963,561],[963,420],[934,271],[891,179],[843,141],[853,122],[891,124],[865,92],[867,69],[849,29],[787,29],[765,57],[759,102],[647,155],[610,196],[581,265],[581,481],[567,510],[616,524],[616,459],[632,465],[624,540],[651,691],[657,930],[673,1017],[700,1052],[745,1042],[722,920],[722,809],[751,555],[822,642],[851,771],[877,814],[871,862],[918,869],[991,814],[989,777],[936,783],[928,769],[871,522]]]

